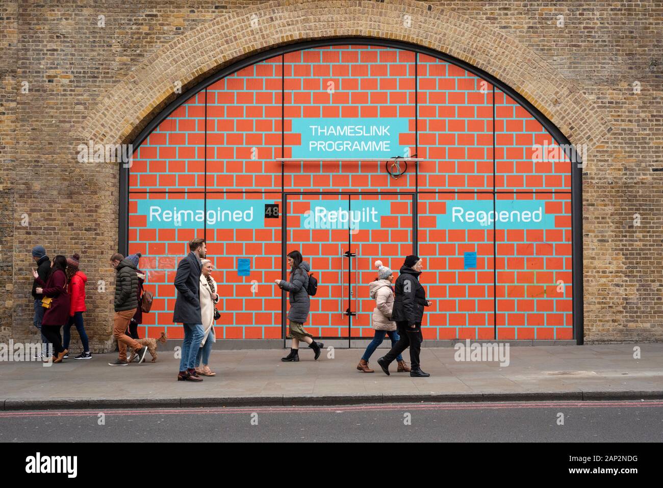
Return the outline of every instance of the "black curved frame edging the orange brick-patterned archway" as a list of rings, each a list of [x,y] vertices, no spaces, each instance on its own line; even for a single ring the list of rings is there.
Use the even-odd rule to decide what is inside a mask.
[[[509,95],[512,99],[517,101],[524,107],[531,115],[538,121],[546,131],[552,135],[555,141],[564,149],[566,156],[571,161],[571,219],[572,219],[572,310],[573,310],[573,339],[577,345],[584,343],[584,299],[583,299],[583,248],[582,248],[582,160],[579,152],[575,151],[575,147],[571,144],[568,138],[560,131],[560,129],[552,123],[545,115],[541,113],[530,101],[522,97],[520,93],[511,88],[511,86],[501,82],[495,76],[468,64],[467,62],[450,56],[444,52],[440,52],[424,46],[418,46],[410,42],[403,42],[400,40],[381,39],[365,36],[351,36],[351,37],[335,37],[319,40],[307,40],[303,42],[294,42],[293,44],[286,44],[278,46],[269,50],[261,51],[252,56],[248,56],[239,60],[218,72],[208,76],[200,83],[192,86],[189,90],[180,94],[176,99],[168,103],[156,117],[154,117],[145,128],[135,137],[132,142],[133,151],[138,149],[147,137],[154,131],[154,129],[162,122],[168,115],[175,109],[180,107],[185,101],[190,99],[196,93],[205,90],[221,78],[233,74],[247,66],[257,64],[261,61],[308,48],[318,48],[324,46],[337,46],[337,45],[370,45],[370,46],[383,46],[388,48],[396,48],[402,50],[409,50],[419,54],[426,54],[433,58],[446,61],[450,64],[455,64],[463,70],[471,72],[479,78],[483,78],[491,83],[494,87],[499,88],[504,93]],[[118,249],[120,253],[127,255],[129,249],[129,167],[126,164],[119,165],[119,219],[118,219]]]

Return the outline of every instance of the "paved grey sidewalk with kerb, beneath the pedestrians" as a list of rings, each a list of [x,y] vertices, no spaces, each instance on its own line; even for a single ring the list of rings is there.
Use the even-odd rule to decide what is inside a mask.
[[[172,351],[125,367],[107,365],[113,354],[72,355],[51,367],[0,363],[0,409],[663,398],[663,343],[637,344],[642,359],[633,358],[634,345],[510,347],[507,367],[455,361],[452,347],[424,348],[430,378],[396,373],[396,363],[387,377],[375,362],[386,349],[371,358],[375,373],[355,369],[361,349],[313,361],[306,348],[299,363],[280,362],[279,350],[213,351],[217,376],[202,383],[176,381]]]

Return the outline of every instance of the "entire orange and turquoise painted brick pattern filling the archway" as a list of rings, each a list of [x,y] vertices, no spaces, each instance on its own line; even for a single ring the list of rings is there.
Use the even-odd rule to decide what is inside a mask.
[[[414,90],[415,64],[418,90]],[[328,86],[334,88],[333,93],[326,91]],[[558,280],[570,283],[572,269],[570,186],[564,186],[570,185],[570,179],[555,172],[570,171],[570,164],[532,162],[532,145],[552,145],[552,137],[542,126],[481,78],[430,56],[372,46],[333,46],[300,50],[243,68],[195,95],[160,123],[149,136],[149,144],[138,150],[132,168],[132,198],[158,199],[164,194],[195,198],[200,199],[201,208],[204,199],[263,198],[262,192],[252,190],[266,191],[280,184],[280,164],[274,158],[280,155],[281,142],[286,157],[291,156],[292,145],[301,143],[300,134],[288,131],[294,117],[406,117],[414,129],[415,91],[420,96],[418,139],[414,139],[414,131],[401,137],[411,145],[412,153],[418,147],[426,158],[420,174],[410,171],[398,180],[376,180],[386,177],[377,163],[286,163],[282,182],[284,191],[290,192],[286,248],[300,249],[320,280],[320,291],[312,300],[310,332],[322,337],[372,335],[374,304],[367,283],[375,278],[376,259],[389,263],[397,274],[402,257],[412,252],[412,193],[419,178],[418,253],[428,260],[422,281],[434,302],[424,319],[425,337],[570,339],[570,284],[563,286],[562,294],[552,292]],[[187,151],[189,141],[194,147]],[[493,191],[493,174],[501,184],[495,188],[500,193]],[[187,176],[190,179],[184,180]],[[190,190],[188,194],[171,186],[180,181],[190,183],[183,185]],[[227,191],[217,191],[221,189]],[[438,225],[449,202],[514,199],[515,194],[503,193],[506,189],[518,192],[515,198],[521,200],[545,191],[536,196],[548,199],[548,213],[560,214],[555,217],[555,228],[517,231]],[[146,190],[148,195],[135,193]],[[402,193],[385,193],[394,190]],[[331,194],[342,191],[362,195]],[[368,191],[381,194],[365,194]],[[272,202],[280,202],[280,192],[269,195]],[[353,203],[384,199],[389,202],[389,214],[381,217],[380,229],[303,226],[304,215],[316,201],[337,202],[339,208],[348,209]],[[270,284],[280,277],[280,219],[265,219],[265,223],[270,227],[198,231],[206,232],[215,277],[223,283],[220,294],[227,297],[219,306],[223,312],[218,337],[281,336],[280,292]],[[164,290],[147,330],[149,335],[158,335],[172,322],[169,310],[175,295],[172,279],[168,281],[176,267],[172,256],[186,253],[186,246],[175,239],[186,241],[194,231],[137,227],[141,224],[141,217],[132,215],[130,238],[137,241],[132,241],[131,249],[142,249],[149,256],[146,271],[150,282]],[[353,263],[342,257],[348,250],[357,253]],[[463,261],[469,252],[477,253],[477,265],[472,269],[466,269]],[[251,276],[237,274],[239,257],[251,259]],[[353,271],[349,272],[350,266]],[[349,321],[345,310],[357,316]],[[174,334],[180,334],[175,330]]]

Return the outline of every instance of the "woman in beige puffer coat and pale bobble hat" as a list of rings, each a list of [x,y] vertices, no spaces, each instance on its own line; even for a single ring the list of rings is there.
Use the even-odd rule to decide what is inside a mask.
[[[369,296],[375,299],[372,320],[375,336],[357,365],[357,369],[364,373],[373,373],[373,369],[369,368],[369,359],[385,339],[385,335],[389,335],[391,345],[400,339],[396,332],[396,322],[391,320],[391,312],[394,308],[394,290],[392,290],[391,284],[394,281],[394,274],[391,269],[382,265],[382,261],[375,261],[375,267],[378,270],[378,276],[375,281],[369,283]],[[410,367],[403,361],[402,356],[396,357],[396,361],[398,361],[398,373],[410,371]]]

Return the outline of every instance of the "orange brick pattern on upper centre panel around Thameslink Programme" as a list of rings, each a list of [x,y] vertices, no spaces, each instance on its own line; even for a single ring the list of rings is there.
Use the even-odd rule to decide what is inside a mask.
[[[409,132],[400,134],[398,143],[415,153],[413,52],[329,46],[288,53],[284,66],[286,124],[294,117],[406,118]],[[300,144],[301,135],[287,129],[284,157],[290,158],[289,146]],[[284,186],[294,191],[413,191],[415,186],[413,172],[391,178],[385,162],[286,162],[285,170]]]

